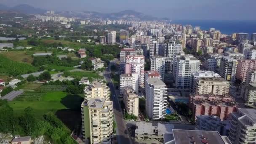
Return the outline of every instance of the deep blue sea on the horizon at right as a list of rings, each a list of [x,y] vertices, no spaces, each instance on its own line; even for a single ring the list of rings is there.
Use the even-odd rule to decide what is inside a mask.
[[[214,27],[216,30],[220,30],[224,34],[232,34],[235,32],[255,33],[256,21],[171,21],[171,24],[191,24],[193,27],[200,26],[200,29],[209,30]]]

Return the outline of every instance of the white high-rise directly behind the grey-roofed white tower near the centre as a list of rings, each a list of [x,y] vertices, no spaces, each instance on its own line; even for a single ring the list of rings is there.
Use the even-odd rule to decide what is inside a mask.
[[[153,56],[151,59],[150,70],[157,71],[160,73],[161,77],[164,80],[165,72],[168,72],[168,68],[171,68],[170,58],[162,56]],[[169,61],[169,62],[168,62]],[[166,70],[165,70],[166,67]]]

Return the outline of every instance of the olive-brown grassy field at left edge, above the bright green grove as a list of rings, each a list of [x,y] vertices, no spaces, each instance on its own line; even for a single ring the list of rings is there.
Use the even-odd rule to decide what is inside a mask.
[[[1,54],[13,61],[26,62],[29,64],[31,64],[33,61],[32,56],[26,51],[4,51],[1,52]]]

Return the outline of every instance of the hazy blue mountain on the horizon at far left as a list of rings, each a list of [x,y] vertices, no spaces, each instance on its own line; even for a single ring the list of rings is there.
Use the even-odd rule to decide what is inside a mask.
[[[18,11],[26,14],[43,14],[46,11],[41,8],[34,8],[30,5],[16,5],[14,7],[7,7],[6,5],[0,4],[0,11]]]

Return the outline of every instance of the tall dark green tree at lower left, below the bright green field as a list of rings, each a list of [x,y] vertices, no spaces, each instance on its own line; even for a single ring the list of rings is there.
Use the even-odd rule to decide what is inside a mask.
[[[24,115],[20,118],[20,123],[23,126],[25,133],[32,135],[32,131],[35,129],[35,115],[32,113],[32,107],[27,107],[24,109]]]

